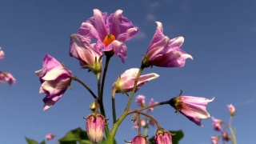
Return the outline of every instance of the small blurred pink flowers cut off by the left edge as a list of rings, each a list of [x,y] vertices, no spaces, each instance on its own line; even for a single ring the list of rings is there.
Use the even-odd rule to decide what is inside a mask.
[[[0,59],[5,58],[5,53],[2,51],[2,48],[0,47]],[[9,85],[16,82],[16,79],[13,77],[12,74],[9,72],[2,72],[0,71],[0,83],[4,83],[4,80],[9,83]]]

